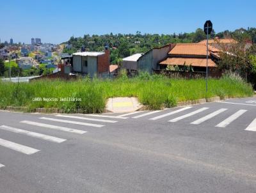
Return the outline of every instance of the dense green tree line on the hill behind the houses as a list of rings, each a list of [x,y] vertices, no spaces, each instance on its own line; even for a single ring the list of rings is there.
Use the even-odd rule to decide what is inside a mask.
[[[212,30],[211,38],[235,38],[239,41],[256,42],[256,28],[237,29],[235,31],[223,31],[215,33]],[[111,63],[118,63],[120,58],[125,58],[135,53],[147,52],[152,47],[161,47],[168,43],[197,43],[205,40],[204,31],[200,28],[192,33],[179,33],[172,35],[158,35],[158,34],[141,34],[137,31],[136,34],[116,34],[110,33],[108,35],[84,35],[83,37],[72,36],[70,40],[64,43],[72,45],[71,49],[64,49],[63,52],[74,53],[85,46],[88,51],[102,51],[105,45],[109,45],[111,49]]]

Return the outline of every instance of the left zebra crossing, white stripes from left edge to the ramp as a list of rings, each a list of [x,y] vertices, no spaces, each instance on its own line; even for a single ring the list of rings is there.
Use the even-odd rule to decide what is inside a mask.
[[[93,118],[94,116],[94,118]],[[116,119],[116,120],[115,120]],[[34,128],[41,129],[44,128],[44,132],[55,130],[56,132],[63,132],[63,134],[74,134],[74,135],[83,135],[86,134],[86,130],[71,128],[71,127],[63,127],[60,126],[58,123],[62,123],[65,125],[72,125],[72,127],[75,127],[76,125],[80,125],[80,127],[86,128],[100,128],[106,126],[106,124],[113,124],[117,123],[118,120],[125,120],[127,119],[125,116],[123,117],[117,117],[117,116],[108,116],[108,115],[99,115],[99,114],[86,114],[84,116],[74,116],[74,115],[66,115],[66,114],[56,114],[49,116],[42,116],[36,118],[36,120],[22,120],[19,121],[20,127],[12,127],[11,125],[0,125],[0,132],[8,132],[12,134],[17,134],[18,136],[26,135],[27,137],[33,137],[35,140],[41,140],[41,141],[47,141],[52,144],[61,144],[65,143],[67,139],[63,139],[62,137],[58,136],[52,136],[43,134],[41,132],[33,132]],[[80,121],[77,121],[80,120]],[[47,121],[47,123],[45,123]],[[103,123],[101,124],[95,124],[95,122]],[[12,124],[12,123],[11,123]],[[31,127],[32,126],[32,127]],[[29,128],[29,130],[26,130],[24,128]],[[58,133],[54,133],[54,135],[58,135]],[[26,142],[25,142],[26,143]],[[13,150],[14,152],[19,152],[25,155],[33,155],[35,153],[38,153],[41,150],[38,150],[38,148],[33,148],[30,146],[26,146],[26,144],[19,144],[15,141],[9,141],[6,139],[0,138],[0,148],[7,148],[9,150]],[[0,164],[0,167],[5,167],[3,164]]]

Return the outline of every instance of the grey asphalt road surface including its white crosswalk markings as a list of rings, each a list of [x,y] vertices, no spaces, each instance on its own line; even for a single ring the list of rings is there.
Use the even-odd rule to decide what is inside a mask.
[[[256,192],[256,98],[102,116],[0,111],[0,192]]]

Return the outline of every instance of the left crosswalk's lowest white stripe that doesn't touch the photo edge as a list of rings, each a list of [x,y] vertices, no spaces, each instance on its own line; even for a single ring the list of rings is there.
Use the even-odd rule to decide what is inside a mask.
[[[70,133],[75,133],[75,134],[85,134],[86,131],[84,130],[77,130],[74,128],[67,128],[67,127],[60,127],[57,125],[50,125],[50,124],[45,124],[45,123],[38,123],[38,122],[34,122],[34,121],[20,121],[20,123],[25,123],[28,125],[35,125],[37,127],[44,127],[44,128],[51,128],[54,130],[60,130],[63,132],[70,132]]]

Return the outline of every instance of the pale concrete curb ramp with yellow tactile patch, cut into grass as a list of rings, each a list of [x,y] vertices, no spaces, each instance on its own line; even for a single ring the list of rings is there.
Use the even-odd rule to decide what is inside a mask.
[[[108,112],[133,112],[138,111],[142,105],[136,97],[109,98],[106,105]]]

